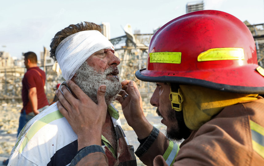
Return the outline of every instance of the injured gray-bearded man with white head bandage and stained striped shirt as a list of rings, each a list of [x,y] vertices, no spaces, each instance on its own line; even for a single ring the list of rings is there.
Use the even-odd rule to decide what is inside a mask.
[[[89,111],[89,108],[96,107],[99,117],[106,114],[100,119],[103,128],[98,128],[98,133],[102,133],[99,140],[101,137],[109,165],[136,165],[134,147],[129,145],[121,128],[118,111],[111,103],[121,90],[117,68],[120,60],[114,55],[114,46],[101,34],[101,30],[99,25],[92,22],[81,22],[64,28],[51,41],[50,57],[58,61],[63,78],[76,83],[96,103],[83,109]],[[63,82],[59,87],[65,98],[75,97],[85,102],[81,95],[71,92],[67,83]],[[100,98],[100,94],[105,94],[105,98]],[[101,100],[105,100],[106,104]],[[84,117],[83,121],[96,128],[93,119],[97,118],[89,118]],[[54,103],[22,129],[8,165],[70,165],[76,153],[81,150],[78,149],[75,132],[59,112],[57,103]],[[98,134],[91,132],[91,135]],[[96,158],[93,160],[97,162]]]

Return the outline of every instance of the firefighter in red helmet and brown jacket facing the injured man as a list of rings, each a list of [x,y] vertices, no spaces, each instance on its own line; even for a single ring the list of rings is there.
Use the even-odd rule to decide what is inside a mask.
[[[252,34],[238,18],[202,10],[168,22],[152,37],[147,68],[137,71],[136,77],[157,83],[150,103],[164,115],[167,133],[187,137],[175,165],[264,162],[264,100],[258,96],[264,93],[264,70],[258,66]],[[170,109],[164,103],[171,104]],[[171,109],[174,114],[168,114]],[[191,130],[189,136],[177,126],[179,112]],[[152,162],[148,157],[161,147],[159,137],[164,136],[144,142],[152,145],[138,155],[147,165]],[[163,157],[156,157],[154,165],[165,161],[170,165],[175,151],[161,151]]]

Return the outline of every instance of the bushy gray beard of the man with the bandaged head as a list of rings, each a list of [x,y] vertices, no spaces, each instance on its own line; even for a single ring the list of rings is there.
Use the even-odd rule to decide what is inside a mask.
[[[118,77],[106,78],[110,73],[117,72],[117,67],[109,67],[103,73],[96,72],[93,67],[89,66],[85,61],[77,70],[77,76],[74,78],[76,84],[82,89],[82,91],[89,96],[96,104],[97,90],[100,85],[106,85],[105,100],[106,105],[115,99],[115,96],[121,90],[121,83]]]

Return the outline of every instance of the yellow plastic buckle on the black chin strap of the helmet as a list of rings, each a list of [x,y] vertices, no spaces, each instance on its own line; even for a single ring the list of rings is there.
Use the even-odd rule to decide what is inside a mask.
[[[174,109],[175,111],[182,111],[182,102],[184,100],[179,85],[170,86],[169,99],[171,102],[172,109]]]

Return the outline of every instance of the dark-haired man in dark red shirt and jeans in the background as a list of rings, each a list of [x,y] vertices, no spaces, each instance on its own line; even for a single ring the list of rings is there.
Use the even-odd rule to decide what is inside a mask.
[[[44,85],[46,74],[37,66],[37,55],[34,52],[24,54],[27,72],[22,80],[23,108],[19,118],[18,134],[26,123],[49,106]]]

